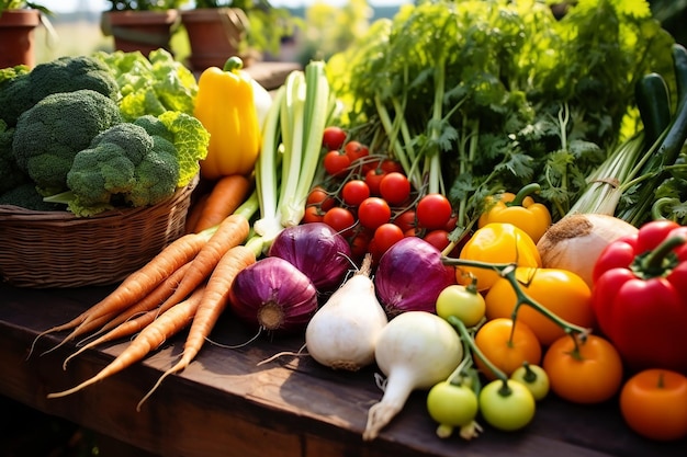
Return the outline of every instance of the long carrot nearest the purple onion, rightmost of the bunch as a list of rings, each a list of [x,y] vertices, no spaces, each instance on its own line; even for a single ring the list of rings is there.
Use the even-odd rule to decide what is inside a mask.
[[[198,307],[195,316],[193,317],[189,335],[183,345],[181,358],[160,376],[155,386],[153,386],[138,403],[138,410],[143,402],[153,395],[167,376],[188,367],[191,361],[198,355],[227,306],[229,289],[232,288],[234,278],[240,271],[255,262],[255,252],[245,245],[232,248],[222,256],[205,285],[201,305]]]

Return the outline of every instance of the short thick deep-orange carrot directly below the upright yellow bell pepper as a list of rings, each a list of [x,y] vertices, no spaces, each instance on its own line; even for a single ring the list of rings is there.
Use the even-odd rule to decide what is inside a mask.
[[[243,174],[222,176],[210,191],[193,231],[200,232],[222,222],[248,196],[252,183]]]

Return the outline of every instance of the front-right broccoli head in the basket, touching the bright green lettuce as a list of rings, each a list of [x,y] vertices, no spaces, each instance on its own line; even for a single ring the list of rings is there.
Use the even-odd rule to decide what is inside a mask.
[[[67,174],[67,203],[77,216],[122,205],[155,205],[174,193],[178,180],[173,145],[138,125],[121,123],[75,156]]]

